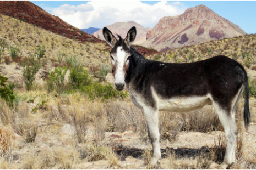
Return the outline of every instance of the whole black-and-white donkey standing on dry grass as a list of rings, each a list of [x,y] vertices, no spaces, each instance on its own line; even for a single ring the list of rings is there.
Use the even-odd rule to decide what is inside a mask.
[[[132,27],[125,39],[117,40],[106,27],[106,42],[115,88],[126,86],[133,104],[143,110],[153,153],[151,165],[160,163],[158,111],[189,112],[212,104],[224,128],[227,147],[220,168],[230,168],[236,161],[237,127],[235,111],[245,88],[244,124],[250,123],[248,77],[244,67],[226,56],[215,56],[194,63],[162,63],[145,59],[130,44],[136,37]]]

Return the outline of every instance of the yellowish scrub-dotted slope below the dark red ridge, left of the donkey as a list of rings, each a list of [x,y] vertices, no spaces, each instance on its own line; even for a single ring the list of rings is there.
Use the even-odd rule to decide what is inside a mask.
[[[57,52],[75,55],[86,64],[99,65],[99,63],[110,61],[109,52],[104,43],[79,43],[74,39],[68,39],[6,15],[0,15],[0,30],[0,39],[7,44],[4,56],[9,56],[7,48],[9,45],[20,47],[21,57],[28,57],[41,44],[46,48],[45,58],[51,61],[57,61]]]

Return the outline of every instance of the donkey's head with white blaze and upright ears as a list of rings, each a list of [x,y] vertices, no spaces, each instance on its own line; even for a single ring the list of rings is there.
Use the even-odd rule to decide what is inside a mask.
[[[112,47],[110,52],[112,73],[115,77],[115,87],[117,90],[121,91],[124,89],[124,86],[126,86],[124,79],[127,76],[130,56],[132,55],[130,52],[130,44],[133,43],[136,37],[136,28],[133,26],[128,31],[125,39],[122,39],[121,36],[117,35],[119,37],[117,40],[112,32],[106,27],[103,29],[103,35],[107,43]]]

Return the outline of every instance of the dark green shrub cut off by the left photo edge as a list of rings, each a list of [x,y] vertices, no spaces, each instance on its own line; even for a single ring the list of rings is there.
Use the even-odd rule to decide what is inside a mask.
[[[7,86],[8,78],[0,75],[0,98],[6,100],[6,103],[9,105],[13,104],[15,99],[15,95],[13,94],[13,90]]]

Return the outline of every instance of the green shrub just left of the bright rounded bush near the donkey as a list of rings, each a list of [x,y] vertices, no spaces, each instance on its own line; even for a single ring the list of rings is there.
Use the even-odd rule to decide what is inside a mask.
[[[68,71],[68,67],[58,67],[55,68],[55,71],[51,71],[49,74],[49,78],[47,80],[47,89],[48,92],[53,90],[57,90],[57,92],[61,92],[64,87],[64,77]]]

